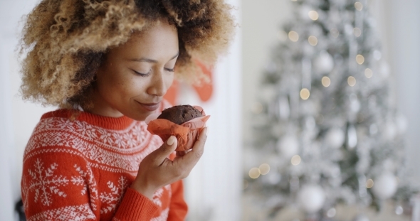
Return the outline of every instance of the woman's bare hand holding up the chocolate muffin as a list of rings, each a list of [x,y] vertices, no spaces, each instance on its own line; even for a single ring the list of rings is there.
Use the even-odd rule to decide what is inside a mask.
[[[152,200],[157,189],[186,178],[204,153],[206,131],[204,129],[200,132],[191,151],[182,154],[183,156],[177,154],[174,161],[169,160],[169,156],[177,148],[177,139],[175,136],[169,137],[159,149],[147,155],[140,163],[131,188]]]

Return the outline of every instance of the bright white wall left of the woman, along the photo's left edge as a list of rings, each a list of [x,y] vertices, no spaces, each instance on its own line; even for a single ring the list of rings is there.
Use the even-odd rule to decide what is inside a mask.
[[[19,21],[35,0],[0,1],[0,220],[14,220],[20,198],[21,162],[33,127],[48,109],[19,97],[16,56]]]

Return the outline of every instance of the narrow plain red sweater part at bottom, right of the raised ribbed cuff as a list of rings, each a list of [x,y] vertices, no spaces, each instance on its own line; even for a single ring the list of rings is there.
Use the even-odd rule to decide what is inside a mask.
[[[172,198],[169,204],[168,221],[181,221],[185,220],[187,216],[187,203],[184,200],[184,185],[182,180],[178,180],[171,184]]]

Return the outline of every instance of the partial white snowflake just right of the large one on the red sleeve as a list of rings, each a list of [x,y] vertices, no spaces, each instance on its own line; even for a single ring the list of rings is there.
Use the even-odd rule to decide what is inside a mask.
[[[98,200],[98,189],[96,188],[96,182],[93,178],[92,171],[90,168],[88,168],[87,172],[85,172],[80,168],[80,166],[76,164],[74,168],[80,174],[80,176],[72,176],[71,183],[74,185],[83,185],[83,189],[81,191],[82,195],[85,195],[89,191],[90,205],[92,210],[97,210],[96,200]]]

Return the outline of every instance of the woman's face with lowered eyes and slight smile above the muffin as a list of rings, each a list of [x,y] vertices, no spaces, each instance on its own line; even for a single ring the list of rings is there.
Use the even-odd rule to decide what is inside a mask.
[[[172,85],[178,55],[177,29],[167,22],[133,34],[107,53],[88,112],[145,120]]]

